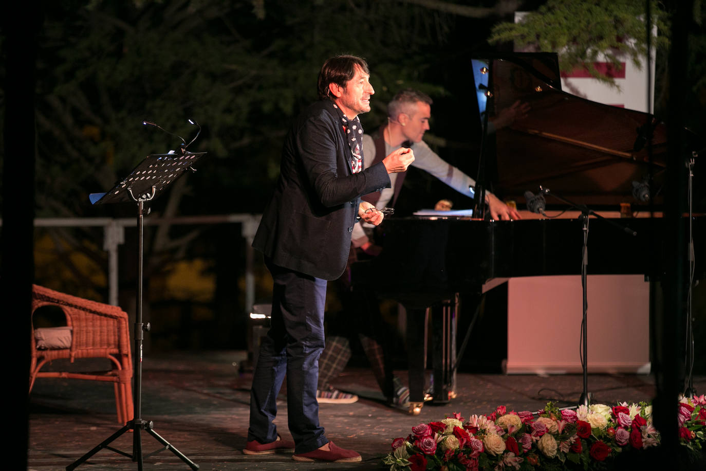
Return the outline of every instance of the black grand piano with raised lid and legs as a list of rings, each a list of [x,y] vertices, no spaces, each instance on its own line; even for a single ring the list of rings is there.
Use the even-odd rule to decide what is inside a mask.
[[[472,61],[481,122],[516,100],[530,105],[526,117],[486,136],[496,153],[484,155],[496,175],[493,193],[525,202],[539,186],[570,201],[600,208],[635,203],[633,190],[652,184],[652,204],[666,167],[666,129],[650,114],[602,105],[561,90],[555,54],[513,54]],[[548,198],[549,199],[549,198]],[[614,224],[611,224],[613,222]],[[683,217],[695,240],[706,235],[706,218]],[[448,215],[388,217],[381,225],[381,255],[352,265],[356,290],[376,290],[407,311],[411,413],[424,401],[426,352],[433,354],[433,401],[445,403],[455,388],[459,296],[480,293],[493,280],[532,275],[579,274],[582,221],[474,220]],[[636,234],[616,230],[630,227]],[[589,274],[644,274],[658,279],[674,247],[665,246],[659,217],[592,220]],[[686,251],[686,246],[683,249]],[[697,278],[706,267],[696,252]],[[431,316],[432,333],[427,322]]]

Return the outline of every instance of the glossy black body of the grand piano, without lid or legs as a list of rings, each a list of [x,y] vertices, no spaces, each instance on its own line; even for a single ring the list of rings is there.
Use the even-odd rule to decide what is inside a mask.
[[[665,220],[611,220],[637,232],[628,234],[608,221],[590,217],[587,243],[589,275],[643,274],[659,279],[666,257]],[[493,278],[578,275],[583,222],[579,219],[457,220],[419,217],[383,222],[383,251],[352,266],[354,285],[376,287],[409,306],[431,306],[455,292],[480,292]],[[681,220],[686,230],[688,218]],[[706,237],[706,217],[693,217],[694,239]],[[686,254],[686,240],[681,248]],[[706,254],[695,252],[696,275],[703,278]]]

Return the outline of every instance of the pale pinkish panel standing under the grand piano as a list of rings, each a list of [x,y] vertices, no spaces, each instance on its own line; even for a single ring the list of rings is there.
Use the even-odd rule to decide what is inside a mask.
[[[508,374],[582,371],[579,275],[508,280]],[[650,284],[587,277],[588,373],[650,373]]]

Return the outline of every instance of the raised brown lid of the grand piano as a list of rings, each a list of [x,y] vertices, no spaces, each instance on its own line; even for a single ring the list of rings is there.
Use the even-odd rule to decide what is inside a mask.
[[[652,175],[659,184],[666,128],[650,126],[652,115],[563,92],[556,54],[493,56],[472,65],[481,120],[486,106],[492,120],[517,100],[530,105],[525,117],[495,133],[494,189],[504,198],[524,201],[525,191],[536,193],[541,185],[578,203],[618,205],[637,203],[633,181]],[[652,164],[640,139],[648,128],[654,129]]]

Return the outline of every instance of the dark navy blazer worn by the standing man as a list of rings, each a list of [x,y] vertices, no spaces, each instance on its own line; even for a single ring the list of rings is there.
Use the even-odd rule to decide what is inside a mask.
[[[382,162],[357,174],[331,100],[299,115],[285,138],[275,193],[253,240],[275,265],[335,280],[346,268],[360,196],[390,186]]]

